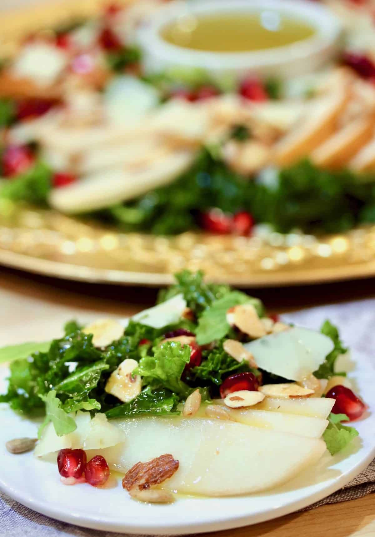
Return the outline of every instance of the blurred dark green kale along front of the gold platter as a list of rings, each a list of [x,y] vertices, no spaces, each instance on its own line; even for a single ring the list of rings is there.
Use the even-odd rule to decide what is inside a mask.
[[[241,126],[236,139],[249,133]],[[3,182],[0,196],[45,205],[52,171],[40,161],[18,177]],[[347,170],[327,171],[311,162],[275,171],[273,180],[239,175],[216,151],[203,149],[192,167],[172,184],[85,217],[112,223],[124,231],[174,235],[202,227],[202,215],[212,207],[224,213],[250,213],[256,223],[268,223],[287,233],[340,233],[360,223],[375,222],[375,177]]]

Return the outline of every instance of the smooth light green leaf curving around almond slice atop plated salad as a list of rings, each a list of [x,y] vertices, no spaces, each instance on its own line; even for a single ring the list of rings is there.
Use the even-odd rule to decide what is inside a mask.
[[[253,304],[258,315],[262,315],[263,306],[261,301],[240,291],[231,291],[221,299],[212,302],[211,306],[202,313],[198,320],[198,328],[195,333],[198,345],[205,345],[215,339],[221,339],[226,336],[230,330],[230,326],[226,321],[227,310],[233,306],[238,306],[238,304],[248,303]]]

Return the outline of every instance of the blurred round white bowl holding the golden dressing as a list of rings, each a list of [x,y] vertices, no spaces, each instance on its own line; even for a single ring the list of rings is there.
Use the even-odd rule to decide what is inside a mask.
[[[161,29],[180,16],[225,12],[278,11],[315,27],[313,37],[254,52],[205,52],[172,45],[161,36]],[[161,8],[149,23],[139,28],[137,41],[144,53],[146,72],[168,68],[201,68],[211,75],[237,76],[254,72],[261,76],[287,77],[319,69],[337,53],[341,25],[324,6],[306,0],[195,0],[171,2]]]

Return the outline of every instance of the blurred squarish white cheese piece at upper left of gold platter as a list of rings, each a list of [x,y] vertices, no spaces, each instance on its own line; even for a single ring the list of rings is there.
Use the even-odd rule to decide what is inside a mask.
[[[35,84],[53,84],[68,63],[64,50],[47,43],[30,43],[21,49],[12,65],[12,73],[18,78],[31,78]]]

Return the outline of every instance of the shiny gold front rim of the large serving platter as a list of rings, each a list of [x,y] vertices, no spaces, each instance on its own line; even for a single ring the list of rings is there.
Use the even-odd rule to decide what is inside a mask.
[[[212,281],[240,287],[318,284],[375,275],[375,226],[324,236],[160,237],[0,200],[0,263],[111,284],[170,284],[183,268],[202,269]]]

